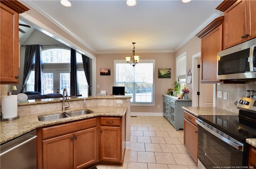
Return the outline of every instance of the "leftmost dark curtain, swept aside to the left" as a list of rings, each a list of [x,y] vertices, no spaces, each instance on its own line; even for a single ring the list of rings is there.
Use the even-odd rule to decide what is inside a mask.
[[[23,80],[22,80],[22,89],[20,93],[26,92],[25,85],[28,82],[28,78],[31,74],[33,69],[33,64],[35,60],[35,45],[26,45],[25,47],[25,59],[24,59],[24,70],[23,70]]]

